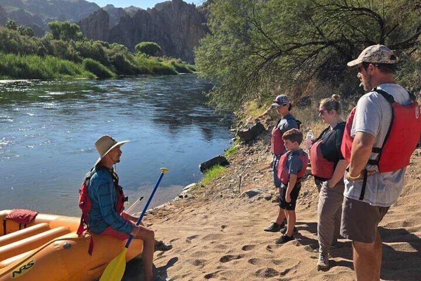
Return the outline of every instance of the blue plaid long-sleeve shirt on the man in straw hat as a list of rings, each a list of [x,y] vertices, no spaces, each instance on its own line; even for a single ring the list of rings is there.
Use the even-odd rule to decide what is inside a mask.
[[[132,232],[133,225],[115,209],[116,192],[110,172],[101,169],[93,174],[88,185],[88,195],[92,201],[88,224],[92,232],[100,234],[109,226],[122,233]]]

